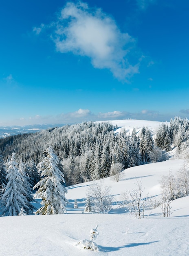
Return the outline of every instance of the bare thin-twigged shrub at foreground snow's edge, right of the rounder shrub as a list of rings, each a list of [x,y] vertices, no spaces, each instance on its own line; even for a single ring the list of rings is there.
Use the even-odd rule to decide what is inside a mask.
[[[141,216],[144,218],[145,209],[147,208],[148,203],[148,195],[145,198],[142,198],[142,182],[136,180],[136,186],[138,189],[132,189],[125,191],[122,193],[123,204],[122,206],[126,206],[127,211],[129,211],[132,215],[136,216],[136,218],[141,219]]]

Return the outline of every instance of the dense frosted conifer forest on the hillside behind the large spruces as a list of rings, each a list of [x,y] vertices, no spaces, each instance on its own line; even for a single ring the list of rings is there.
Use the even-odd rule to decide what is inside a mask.
[[[1,155],[7,162],[14,151],[17,162],[26,165],[29,176],[36,182],[36,166],[44,157],[46,148],[51,146],[62,163],[66,184],[70,185],[108,177],[115,171],[117,163],[125,169],[163,161],[166,159],[165,151],[173,146],[177,146],[182,154],[187,153],[188,119],[176,117],[169,126],[162,123],[155,139],[148,127],[143,127],[139,134],[135,128],[132,134],[125,130],[116,133],[116,129],[110,122],[84,122],[9,136],[0,139]]]

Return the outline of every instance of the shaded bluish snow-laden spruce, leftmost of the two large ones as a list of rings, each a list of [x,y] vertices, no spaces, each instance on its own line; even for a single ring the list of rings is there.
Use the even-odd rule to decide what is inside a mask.
[[[15,162],[15,153],[12,154],[10,162],[7,163],[8,180],[5,192],[2,196],[4,201],[4,216],[15,216],[20,213],[22,207],[29,209],[24,194],[26,191],[22,186],[22,179],[18,172],[18,164]]]

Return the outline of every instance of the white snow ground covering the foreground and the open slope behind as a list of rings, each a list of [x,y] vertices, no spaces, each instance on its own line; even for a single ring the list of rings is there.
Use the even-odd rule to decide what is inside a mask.
[[[121,127],[121,122],[117,123],[118,127]],[[149,124],[149,121],[146,122]],[[140,127],[143,126],[146,126],[144,122]],[[155,130],[155,126],[152,130]],[[106,214],[84,213],[84,201],[92,185],[92,182],[86,182],[67,188],[67,214],[0,218],[0,255],[188,256],[189,196],[171,202],[169,218],[162,216],[160,207],[149,209],[145,212],[145,218],[140,220],[119,207],[121,193],[125,189],[136,188],[136,179],[142,180],[143,197],[147,193],[158,196],[162,175],[168,175],[169,171],[176,174],[183,163],[181,159],[170,159],[128,168],[122,172],[119,182],[112,177],[103,179],[103,186],[111,186],[114,196],[112,210]],[[75,199],[78,208],[74,208]],[[80,240],[89,240],[90,230],[97,225],[99,236],[95,243],[99,252],[76,246]]]

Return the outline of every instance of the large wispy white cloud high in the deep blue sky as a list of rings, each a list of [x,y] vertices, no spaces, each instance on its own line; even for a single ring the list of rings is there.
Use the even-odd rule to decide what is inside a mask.
[[[101,9],[68,2],[61,11],[53,40],[57,51],[88,56],[94,67],[107,68],[118,79],[138,73],[139,64],[129,61],[136,54],[132,52],[134,38],[121,33],[115,21]]]

